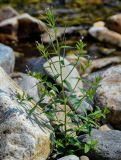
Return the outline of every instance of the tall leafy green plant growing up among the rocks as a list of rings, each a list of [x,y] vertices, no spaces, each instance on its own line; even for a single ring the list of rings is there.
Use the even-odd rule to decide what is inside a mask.
[[[53,36],[55,42],[53,42],[53,37],[47,30],[51,40],[51,46],[54,50],[55,55],[58,56],[60,71],[56,69],[55,64],[53,63],[53,61],[51,61],[48,48],[39,43],[37,43],[37,48],[44,58],[46,58],[47,60],[50,59],[49,67],[52,72],[53,68],[54,70],[56,70],[57,74],[54,75],[54,80],[56,81],[57,78],[60,77],[61,82],[60,84],[52,83],[48,81],[47,76],[41,75],[40,73],[32,73],[29,71],[29,75],[32,75],[39,79],[41,85],[43,85],[43,87],[40,88],[41,98],[38,104],[42,103],[42,100],[45,96],[50,97],[49,103],[43,107],[43,112],[48,116],[48,118],[52,122],[52,125],[54,126],[56,139],[54,141],[55,148],[52,157],[57,158],[63,155],[77,153],[80,150],[84,150],[84,152],[87,153],[90,149],[93,149],[95,147],[97,142],[90,139],[90,141],[88,141],[86,144],[83,144],[78,140],[78,135],[86,133],[91,137],[92,128],[98,128],[99,120],[101,118],[105,118],[105,115],[108,113],[106,109],[100,110],[98,107],[95,107],[95,111],[91,111],[91,113],[88,113],[82,105],[83,101],[86,101],[90,104],[93,103],[94,95],[100,78],[97,77],[95,79],[95,82],[91,83],[91,87],[89,87],[88,90],[80,88],[81,96],[77,96],[75,92],[75,87],[77,84],[74,88],[72,88],[67,78],[72,73],[73,69],[78,65],[81,57],[84,55],[85,44],[82,42],[82,40],[77,42],[76,46],[74,47],[74,49],[77,50],[77,54],[76,60],[73,63],[73,68],[68,73],[66,78],[63,79],[63,67],[66,67],[64,62],[65,50],[67,48],[70,48],[71,46],[66,46],[64,41],[61,43],[59,42],[57,38],[56,20],[51,10],[47,11],[47,22],[48,26],[51,27],[54,31]],[[61,49],[64,50],[63,55],[61,54]],[[81,69],[83,70],[83,72],[89,67],[89,64],[90,63],[88,62],[84,65],[81,65]],[[79,81],[82,81],[81,77],[78,78],[77,83],[79,83]],[[65,91],[69,93],[69,96],[66,95]],[[68,111],[69,100],[74,106],[73,111]],[[63,105],[63,108],[59,108],[58,105]],[[76,110],[80,106],[82,106],[83,114],[76,113]],[[31,109],[29,115],[32,114],[36,107],[37,105],[33,109]],[[63,114],[63,120],[59,119],[59,117],[57,116],[58,113]],[[68,122],[68,119],[70,119],[71,121]],[[73,127],[69,127],[70,123]]]

